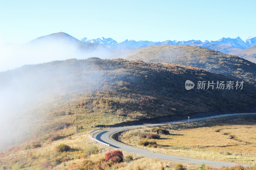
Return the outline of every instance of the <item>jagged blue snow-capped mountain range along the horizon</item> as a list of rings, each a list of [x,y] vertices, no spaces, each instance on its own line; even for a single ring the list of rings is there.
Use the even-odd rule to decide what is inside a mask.
[[[249,37],[246,40],[242,40],[240,37],[237,38],[221,38],[218,41],[200,41],[200,40],[189,40],[189,41],[171,41],[166,40],[163,42],[154,42],[154,41],[134,41],[134,40],[125,40],[123,42],[116,42],[112,38],[104,38],[100,37],[97,39],[89,40],[86,37],[81,39],[83,42],[96,42],[99,43],[107,48],[115,48],[115,47],[129,47],[129,48],[141,48],[145,46],[152,46],[152,45],[161,45],[161,44],[170,44],[170,45],[193,45],[193,46],[204,46],[208,44],[215,44],[215,48],[217,45],[225,46],[225,48],[239,48],[245,49],[249,48],[256,44],[256,37]],[[215,49],[216,50],[216,49]],[[218,50],[218,48],[217,48]],[[221,51],[225,52],[225,51]]]

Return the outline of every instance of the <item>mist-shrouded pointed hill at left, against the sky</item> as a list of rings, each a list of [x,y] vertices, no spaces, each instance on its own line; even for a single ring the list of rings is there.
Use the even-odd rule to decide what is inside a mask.
[[[53,33],[22,45],[0,47],[0,71],[11,70],[25,64],[39,64],[69,58],[92,56],[107,58],[110,50],[98,43],[85,43],[67,33]]]

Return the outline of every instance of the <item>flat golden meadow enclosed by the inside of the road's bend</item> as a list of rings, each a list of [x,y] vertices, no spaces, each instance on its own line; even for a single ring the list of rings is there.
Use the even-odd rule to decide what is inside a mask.
[[[196,125],[183,123],[182,126],[166,125],[164,129],[168,129],[170,135],[161,134],[159,139],[147,139],[140,136],[141,133],[152,133],[151,127],[133,129],[123,132],[119,140],[125,144],[159,153],[255,165],[255,119],[255,116],[253,119],[238,122],[234,120],[223,122],[222,119],[219,123],[208,122],[208,125],[204,127],[201,127],[200,123]],[[179,126],[181,127],[177,128]],[[138,145],[139,141],[145,140],[153,140],[157,146]]]

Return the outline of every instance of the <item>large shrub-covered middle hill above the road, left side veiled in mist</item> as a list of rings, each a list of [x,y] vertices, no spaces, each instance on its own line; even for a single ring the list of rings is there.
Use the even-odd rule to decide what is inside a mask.
[[[74,106],[80,122],[90,122],[90,113],[97,115],[101,121],[93,122],[95,125],[113,124],[106,122],[110,116],[118,123],[210,111],[247,112],[256,106],[256,88],[246,82],[237,90],[195,87],[188,91],[186,80],[195,84],[236,81],[172,63],[99,58],[25,65],[1,72],[0,134],[6,140],[0,145],[29,141],[34,135],[73,126]]]

